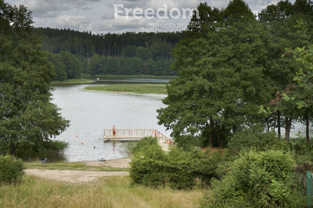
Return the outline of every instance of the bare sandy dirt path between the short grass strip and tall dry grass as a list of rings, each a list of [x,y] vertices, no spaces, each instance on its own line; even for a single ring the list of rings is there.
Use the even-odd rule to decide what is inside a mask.
[[[54,181],[64,181],[71,183],[85,183],[95,181],[102,176],[125,176],[128,172],[103,172],[103,171],[69,171],[69,170],[40,170],[27,169],[27,175],[34,175],[44,179]]]

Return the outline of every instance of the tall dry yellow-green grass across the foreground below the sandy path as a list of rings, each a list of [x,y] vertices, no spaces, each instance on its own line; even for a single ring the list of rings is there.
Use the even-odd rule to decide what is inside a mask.
[[[0,207],[198,207],[201,190],[132,186],[129,176],[66,184],[24,176],[19,185],[0,186]]]

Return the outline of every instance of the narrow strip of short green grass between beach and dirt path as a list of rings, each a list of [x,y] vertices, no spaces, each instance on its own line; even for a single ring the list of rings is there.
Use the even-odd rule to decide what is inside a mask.
[[[24,162],[25,169],[70,170],[70,171],[129,171],[129,168],[89,166],[81,162]]]

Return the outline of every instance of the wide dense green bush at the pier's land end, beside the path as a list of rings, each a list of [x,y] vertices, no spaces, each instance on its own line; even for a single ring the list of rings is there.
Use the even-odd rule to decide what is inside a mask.
[[[166,153],[153,144],[134,155],[130,177],[133,183],[144,186],[190,189],[198,186],[199,181],[208,184],[212,177],[216,177],[219,161],[223,161],[220,152],[208,155],[195,148],[188,152],[172,148]]]

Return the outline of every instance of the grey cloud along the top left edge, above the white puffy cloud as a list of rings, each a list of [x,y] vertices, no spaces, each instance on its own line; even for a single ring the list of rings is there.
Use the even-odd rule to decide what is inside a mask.
[[[13,4],[23,4],[33,12],[33,17],[56,17],[62,11],[71,9],[92,10],[92,2],[100,0],[17,0]]]

